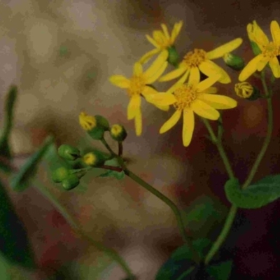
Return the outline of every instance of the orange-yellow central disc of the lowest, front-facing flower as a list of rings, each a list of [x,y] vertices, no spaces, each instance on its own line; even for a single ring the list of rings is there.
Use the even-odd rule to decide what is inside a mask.
[[[183,110],[188,107],[197,99],[197,91],[193,85],[184,84],[174,91],[177,102],[174,104],[176,110]]]

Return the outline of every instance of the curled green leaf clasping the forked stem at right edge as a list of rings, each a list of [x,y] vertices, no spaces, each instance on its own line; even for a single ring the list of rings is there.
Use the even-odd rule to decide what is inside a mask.
[[[267,176],[245,190],[241,190],[237,179],[231,179],[225,183],[225,193],[237,207],[257,209],[280,197],[280,176]]]

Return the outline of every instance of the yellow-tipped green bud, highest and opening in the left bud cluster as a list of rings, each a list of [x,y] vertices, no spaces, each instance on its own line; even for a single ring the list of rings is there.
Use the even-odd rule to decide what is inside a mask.
[[[79,116],[80,126],[90,134],[90,137],[94,140],[100,140],[104,136],[104,127],[100,125],[100,118],[97,121],[96,117],[88,116],[86,113],[81,112]],[[104,122],[104,121],[103,121]]]

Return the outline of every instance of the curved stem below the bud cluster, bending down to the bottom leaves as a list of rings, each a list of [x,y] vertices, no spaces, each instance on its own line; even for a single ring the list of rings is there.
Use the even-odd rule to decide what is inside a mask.
[[[165,195],[160,193],[158,190],[153,188],[153,186],[146,183],[139,176],[137,176],[136,174],[134,174],[133,172],[131,172],[127,168],[125,168],[124,171],[125,171],[125,174],[127,176],[129,176],[132,180],[139,183],[140,186],[146,188],[146,190],[148,190],[150,193],[153,193],[153,195],[155,195],[160,200],[162,200],[162,202],[165,202],[165,204],[167,204],[172,209],[174,215],[176,216],[176,220],[177,220],[177,223],[179,225],[179,230],[180,230],[181,235],[183,237],[183,241],[187,244],[188,248],[190,248],[190,251],[193,254],[193,260],[196,263],[199,263],[200,262],[200,255],[198,255],[197,251],[195,251],[195,248],[193,248],[192,242],[190,241],[190,239],[188,238],[188,236],[186,234],[185,227],[183,225],[183,219],[182,219],[182,216],[181,216],[181,212],[179,211],[178,207],[176,207],[176,204],[174,204],[174,202],[172,202],[172,200],[169,200],[168,197],[166,197]]]

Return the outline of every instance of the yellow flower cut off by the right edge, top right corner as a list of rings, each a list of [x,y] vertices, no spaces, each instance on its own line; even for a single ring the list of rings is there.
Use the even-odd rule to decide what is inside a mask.
[[[250,77],[255,71],[262,71],[269,63],[275,78],[280,78],[280,66],[277,56],[280,55],[280,28],[278,22],[273,20],[270,24],[272,40],[269,41],[262,29],[255,21],[247,26],[248,37],[260,48],[261,53],[254,57],[239,74],[239,80],[242,82]]]

